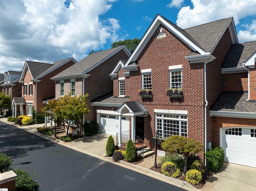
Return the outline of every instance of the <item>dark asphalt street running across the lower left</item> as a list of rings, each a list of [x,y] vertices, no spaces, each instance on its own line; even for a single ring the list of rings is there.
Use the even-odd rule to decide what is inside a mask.
[[[40,191],[182,191],[168,183],[0,122],[0,153],[38,181]]]

